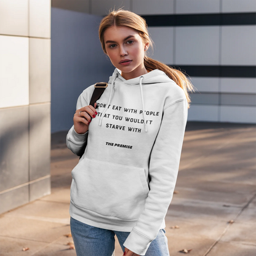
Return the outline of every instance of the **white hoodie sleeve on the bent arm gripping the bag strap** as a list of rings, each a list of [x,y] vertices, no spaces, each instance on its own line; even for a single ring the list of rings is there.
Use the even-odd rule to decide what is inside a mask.
[[[83,106],[87,106],[86,99],[83,96],[83,93],[79,95],[78,102],[76,103],[76,110],[79,108],[82,108]],[[74,125],[71,127],[71,129],[68,131],[68,134],[66,135],[66,146],[74,153],[77,154],[79,150],[81,149],[84,142],[87,142],[89,131],[85,134],[77,134],[74,130]]]

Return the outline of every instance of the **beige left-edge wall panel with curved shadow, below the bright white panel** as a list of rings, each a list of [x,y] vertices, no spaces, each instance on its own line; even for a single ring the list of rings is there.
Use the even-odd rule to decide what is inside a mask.
[[[2,108],[0,120],[0,191],[3,191],[28,182],[28,106]]]

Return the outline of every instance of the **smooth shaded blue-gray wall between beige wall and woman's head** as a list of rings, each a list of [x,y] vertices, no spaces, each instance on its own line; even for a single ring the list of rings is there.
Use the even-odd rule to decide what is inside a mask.
[[[98,39],[100,20],[52,8],[52,132],[70,129],[82,90],[95,82],[108,82],[113,74],[114,66]]]

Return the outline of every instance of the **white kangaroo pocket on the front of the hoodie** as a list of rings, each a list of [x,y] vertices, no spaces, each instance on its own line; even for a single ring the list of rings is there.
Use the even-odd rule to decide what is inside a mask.
[[[71,200],[105,217],[136,220],[148,195],[143,168],[84,158],[71,172]]]

